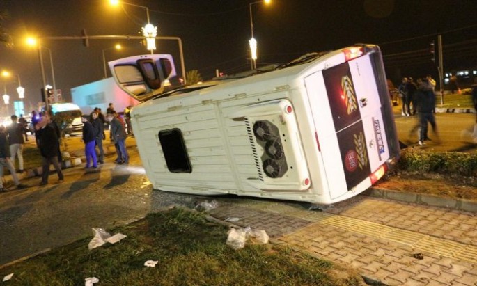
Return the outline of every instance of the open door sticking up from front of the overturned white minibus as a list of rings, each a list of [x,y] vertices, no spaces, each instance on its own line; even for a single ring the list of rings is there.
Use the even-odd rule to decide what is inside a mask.
[[[164,81],[175,77],[169,54],[130,56],[109,62],[116,84],[139,102],[164,92]]]

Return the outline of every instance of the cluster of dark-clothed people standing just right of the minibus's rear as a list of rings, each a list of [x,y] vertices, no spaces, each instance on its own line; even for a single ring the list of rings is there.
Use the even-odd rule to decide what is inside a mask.
[[[403,78],[398,87],[402,98],[402,116],[411,116],[419,114],[419,124],[411,130],[411,134],[419,129],[419,145],[425,145],[428,137],[428,124],[432,131],[437,134],[437,125],[435,121],[435,86],[436,81],[430,75],[423,79],[417,79],[414,83],[412,77]],[[411,108],[412,106],[412,108]]]

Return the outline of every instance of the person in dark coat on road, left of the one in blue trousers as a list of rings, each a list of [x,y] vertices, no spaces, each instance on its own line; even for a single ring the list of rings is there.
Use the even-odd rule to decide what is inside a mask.
[[[48,184],[49,165],[53,164],[56,173],[58,173],[58,183],[63,182],[64,176],[61,166],[58,162],[58,136],[53,127],[49,124],[49,118],[42,116],[40,122],[36,125],[38,132],[38,148],[42,156],[42,180],[40,186]]]

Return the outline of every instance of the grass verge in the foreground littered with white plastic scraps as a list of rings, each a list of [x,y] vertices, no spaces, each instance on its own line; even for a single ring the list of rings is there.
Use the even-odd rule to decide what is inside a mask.
[[[8,285],[363,285],[331,262],[278,245],[226,246],[228,229],[187,209],[170,209],[112,230],[117,244],[88,250],[91,237],[0,269]],[[154,268],[147,260],[158,260]],[[1,276],[3,275],[3,276]]]

